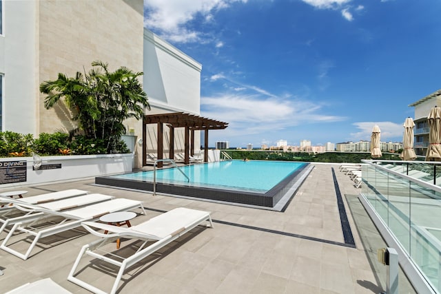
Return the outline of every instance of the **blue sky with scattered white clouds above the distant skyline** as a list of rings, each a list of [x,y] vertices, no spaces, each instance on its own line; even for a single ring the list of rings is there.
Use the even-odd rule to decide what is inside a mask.
[[[209,145],[401,141],[441,88],[439,0],[144,0],[145,27],[203,65]]]

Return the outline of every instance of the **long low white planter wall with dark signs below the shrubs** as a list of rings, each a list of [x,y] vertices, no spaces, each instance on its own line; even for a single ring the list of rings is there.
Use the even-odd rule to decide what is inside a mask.
[[[0,158],[0,189],[121,174],[133,169],[134,154]]]

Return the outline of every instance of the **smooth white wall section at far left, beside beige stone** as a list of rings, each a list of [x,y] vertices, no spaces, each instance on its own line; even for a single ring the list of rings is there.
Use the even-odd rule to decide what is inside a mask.
[[[34,1],[2,1],[0,73],[3,74],[3,130],[36,135],[37,102]]]

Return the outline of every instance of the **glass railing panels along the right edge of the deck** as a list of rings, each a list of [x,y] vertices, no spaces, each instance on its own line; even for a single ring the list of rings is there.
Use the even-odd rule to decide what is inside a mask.
[[[427,284],[440,293],[441,162],[364,162],[360,196],[376,211]]]

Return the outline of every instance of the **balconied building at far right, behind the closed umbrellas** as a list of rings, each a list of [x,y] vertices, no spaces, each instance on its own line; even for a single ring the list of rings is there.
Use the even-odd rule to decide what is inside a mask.
[[[415,123],[415,128],[413,129],[415,139],[413,140],[413,149],[415,149],[417,155],[425,156],[429,146],[427,116],[429,116],[432,107],[441,107],[441,90],[433,92],[409,106],[415,107],[415,118],[413,120]]]

